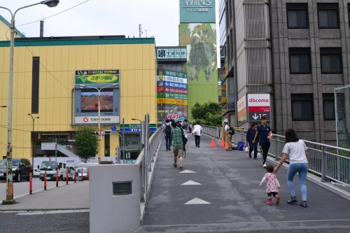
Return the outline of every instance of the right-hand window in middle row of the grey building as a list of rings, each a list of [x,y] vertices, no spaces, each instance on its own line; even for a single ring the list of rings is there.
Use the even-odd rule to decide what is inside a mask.
[[[321,73],[343,73],[342,48],[320,48]]]

